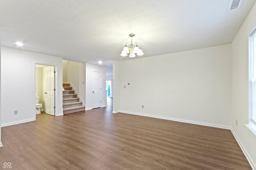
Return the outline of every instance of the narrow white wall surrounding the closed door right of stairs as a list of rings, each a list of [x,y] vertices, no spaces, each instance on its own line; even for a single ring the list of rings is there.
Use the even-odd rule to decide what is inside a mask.
[[[106,107],[106,67],[86,63],[86,110],[92,109],[92,71],[101,72],[101,107]]]

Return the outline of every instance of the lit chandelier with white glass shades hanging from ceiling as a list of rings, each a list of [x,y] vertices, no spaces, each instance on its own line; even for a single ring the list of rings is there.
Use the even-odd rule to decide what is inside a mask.
[[[132,38],[134,37],[134,34],[129,34],[129,36]],[[144,55],[142,49],[140,49],[140,46],[137,43],[136,45],[133,44],[132,41],[131,44],[128,44],[128,46],[127,43],[125,44],[121,56],[127,56],[128,53],[130,53],[129,57],[136,57],[135,53],[137,53],[137,55]]]

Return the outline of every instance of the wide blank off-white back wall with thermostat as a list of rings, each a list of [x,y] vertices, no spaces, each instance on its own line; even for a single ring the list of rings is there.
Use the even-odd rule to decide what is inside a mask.
[[[231,45],[114,64],[120,106],[113,112],[230,128]]]

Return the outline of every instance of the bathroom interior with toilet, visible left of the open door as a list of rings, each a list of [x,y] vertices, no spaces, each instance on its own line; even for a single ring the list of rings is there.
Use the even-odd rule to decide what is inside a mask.
[[[36,64],[36,114],[46,112],[46,71],[47,65]]]

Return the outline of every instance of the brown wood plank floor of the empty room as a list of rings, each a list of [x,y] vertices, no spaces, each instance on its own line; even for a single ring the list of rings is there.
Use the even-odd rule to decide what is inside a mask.
[[[2,127],[0,164],[10,162],[12,170],[251,169],[230,130],[111,112],[108,102]]]

